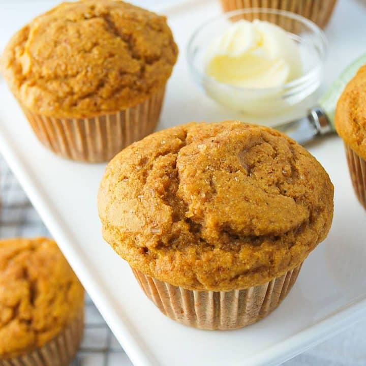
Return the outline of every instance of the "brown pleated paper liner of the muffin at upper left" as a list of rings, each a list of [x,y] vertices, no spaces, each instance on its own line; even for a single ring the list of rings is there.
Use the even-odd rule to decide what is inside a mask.
[[[155,130],[164,93],[165,85],[137,106],[90,118],[54,118],[22,108],[38,139],[55,154],[98,163]]]

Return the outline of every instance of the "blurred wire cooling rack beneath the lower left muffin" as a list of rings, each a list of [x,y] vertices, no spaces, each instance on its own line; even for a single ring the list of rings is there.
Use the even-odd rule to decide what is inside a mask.
[[[0,238],[50,236],[4,159],[0,156]],[[131,366],[93,301],[85,299],[85,330],[71,366]]]

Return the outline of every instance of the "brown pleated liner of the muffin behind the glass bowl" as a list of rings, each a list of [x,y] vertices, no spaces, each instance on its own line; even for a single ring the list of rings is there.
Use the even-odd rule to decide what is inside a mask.
[[[222,8],[226,12],[247,8],[286,10],[312,20],[321,28],[328,23],[336,2],[337,0],[221,0]],[[253,20],[253,14],[250,16],[252,18],[248,18],[248,20]],[[265,16],[267,18],[264,18]],[[271,19],[273,16],[263,14],[260,16],[260,20],[269,20],[283,26],[283,24],[273,21]]]

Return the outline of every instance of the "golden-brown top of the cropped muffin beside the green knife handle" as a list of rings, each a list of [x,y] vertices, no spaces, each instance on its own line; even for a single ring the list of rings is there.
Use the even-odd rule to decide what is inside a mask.
[[[335,110],[334,123],[345,143],[366,159],[366,65],[344,89]]]

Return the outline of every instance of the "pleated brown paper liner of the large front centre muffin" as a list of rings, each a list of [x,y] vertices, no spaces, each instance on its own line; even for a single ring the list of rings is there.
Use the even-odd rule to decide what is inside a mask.
[[[301,265],[263,285],[232,291],[187,290],[132,270],[147,297],[167,317],[195,328],[228,330],[256,323],[275,310]]]

